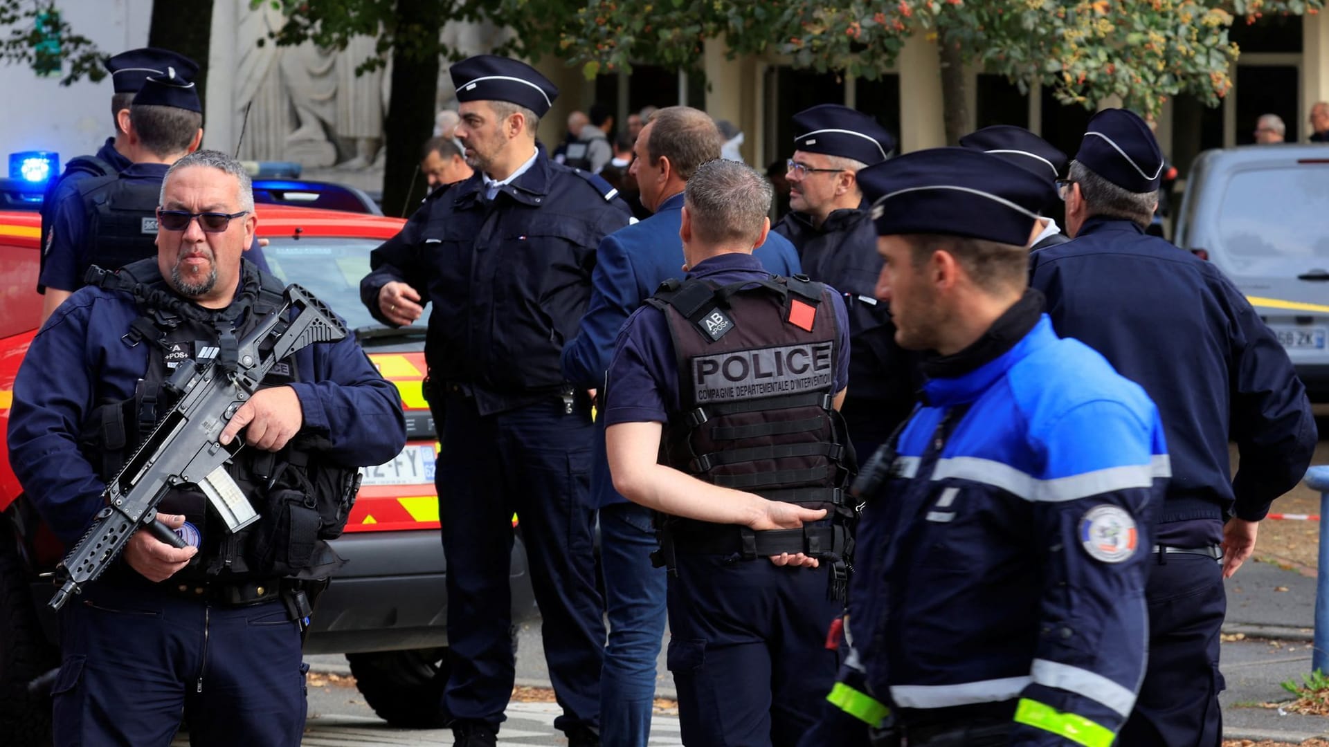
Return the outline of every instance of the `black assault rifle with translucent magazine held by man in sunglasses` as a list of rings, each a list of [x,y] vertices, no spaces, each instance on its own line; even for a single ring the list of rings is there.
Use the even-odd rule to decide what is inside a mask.
[[[291,310],[299,314],[287,319]],[[198,485],[229,532],[258,521],[254,506],[225,467],[243,441],[237,437],[222,445],[218,437],[275,363],[312,343],[336,342],[346,335],[332,310],[292,284],[286,288],[282,308],[239,342],[233,371],[221,363],[181,362],[166,381],[179,400],[106,484],[102,492],[106,508],[97,512],[92,528],[56,569],[61,586],[51,598],[51,607],[58,610],[69,594],[96,581],[136,529],[145,528],[163,542],[185,546],[169,526],[157,521],[157,504],[171,488]]]

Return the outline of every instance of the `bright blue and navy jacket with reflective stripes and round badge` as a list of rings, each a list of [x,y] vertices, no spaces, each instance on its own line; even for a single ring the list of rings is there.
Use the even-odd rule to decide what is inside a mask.
[[[847,710],[906,727],[995,714],[1029,747],[1107,747],[1131,712],[1163,427],[1039,308],[1027,294],[929,364],[860,525],[851,663],[880,707],[841,686]]]

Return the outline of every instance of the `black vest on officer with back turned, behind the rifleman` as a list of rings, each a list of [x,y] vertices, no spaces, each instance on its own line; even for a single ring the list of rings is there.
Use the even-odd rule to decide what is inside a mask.
[[[89,226],[80,276],[96,265],[106,270],[157,257],[157,203],[161,181],[120,174],[78,185]]]

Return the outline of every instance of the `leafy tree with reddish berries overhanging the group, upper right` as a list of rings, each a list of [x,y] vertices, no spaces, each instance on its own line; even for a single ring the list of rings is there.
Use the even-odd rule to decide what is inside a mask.
[[[1232,88],[1236,19],[1317,13],[1321,0],[663,0],[638,5],[590,0],[561,48],[591,77],[633,61],[695,68],[703,39],[731,54],[776,53],[797,68],[876,78],[905,37],[938,44],[946,140],[964,116],[960,66],[974,62],[1027,90],[1039,84],[1063,104],[1095,108],[1108,97],[1146,116],[1170,96],[1215,106]]]

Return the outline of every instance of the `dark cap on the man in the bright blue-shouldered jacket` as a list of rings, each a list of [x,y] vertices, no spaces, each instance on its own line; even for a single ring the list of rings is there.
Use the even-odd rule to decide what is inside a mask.
[[[930,148],[859,171],[877,235],[941,234],[1029,243],[1047,181],[968,148]]]

